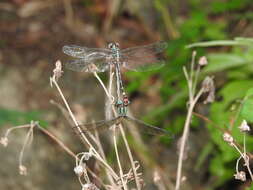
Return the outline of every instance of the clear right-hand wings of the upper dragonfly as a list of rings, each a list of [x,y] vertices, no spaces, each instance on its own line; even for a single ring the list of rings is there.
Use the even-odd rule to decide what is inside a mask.
[[[158,69],[166,63],[163,52],[167,46],[166,42],[156,42],[124,49],[121,51],[122,66],[133,71]]]

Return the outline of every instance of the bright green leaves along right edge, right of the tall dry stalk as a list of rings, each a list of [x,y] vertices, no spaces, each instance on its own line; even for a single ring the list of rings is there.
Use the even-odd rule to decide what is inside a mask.
[[[233,45],[227,53],[207,53],[209,65],[203,70],[204,74],[219,75],[222,73],[221,79],[224,80],[217,91],[217,96],[221,97],[221,100],[211,104],[209,117],[220,128],[229,130],[239,144],[243,144],[243,135],[238,126],[243,119],[248,122],[253,121],[252,39],[236,38],[225,43],[211,41],[191,46],[208,47],[209,45]],[[213,184],[213,186],[218,186],[232,178],[233,173],[235,173],[234,163],[239,154],[233,148],[229,148],[227,143],[222,140],[222,131],[215,130],[211,125],[208,129],[210,140],[215,147],[215,149],[210,150],[212,155],[210,172],[218,177],[216,183]],[[253,150],[252,145],[253,137],[248,136],[246,146],[248,151]]]

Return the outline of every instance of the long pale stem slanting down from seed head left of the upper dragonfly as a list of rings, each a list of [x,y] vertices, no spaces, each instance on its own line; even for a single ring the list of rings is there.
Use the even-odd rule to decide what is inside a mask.
[[[78,130],[78,132],[79,132],[79,134],[82,136],[82,138],[85,140],[85,142],[89,145],[89,147],[93,150],[93,152],[95,153],[94,156],[96,157],[96,159],[99,160],[105,167],[108,168],[108,170],[110,171],[110,173],[111,173],[111,175],[114,177],[114,179],[118,179],[117,174],[116,174],[116,173],[113,171],[113,169],[103,160],[103,158],[97,153],[97,151],[96,151],[95,148],[92,146],[92,144],[89,142],[89,140],[86,138],[86,136],[84,135],[84,133],[82,133],[82,130],[81,130],[81,128],[79,127],[79,124],[78,124],[78,122],[77,122],[77,120],[76,120],[76,118],[75,118],[73,112],[71,111],[71,109],[70,109],[70,107],[69,107],[69,105],[68,105],[68,102],[67,102],[67,100],[65,99],[65,97],[64,97],[64,95],[63,95],[63,93],[62,93],[62,91],[61,91],[61,89],[60,89],[58,83],[55,81],[54,78],[51,78],[51,80],[52,80],[52,83],[56,86],[56,88],[57,88],[57,90],[58,90],[58,92],[59,92],[59,94],[60,94],[60,96],[61,96],[61,98],[62,98],[62,100],[63,100],[63,102],[64,102],[64,104],[65,104],[65,106],[66,106],[66,108],[67,108],[67,110],[68,110],[68,112],[69,112],[69,114],[70,114],[72,120],[73,120],[73,122],[74,122],[74,124],[75,124],[75,127],[77,128],[77,130]]]

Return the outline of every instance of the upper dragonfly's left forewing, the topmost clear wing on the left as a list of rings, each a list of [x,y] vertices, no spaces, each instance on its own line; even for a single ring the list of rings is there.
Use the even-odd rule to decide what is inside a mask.
[[[102,58],[109,57],[112,54],[110,49],[105,48],[87,48],[76,45],[67,45],[62,48],[63,53],[75,58]]]

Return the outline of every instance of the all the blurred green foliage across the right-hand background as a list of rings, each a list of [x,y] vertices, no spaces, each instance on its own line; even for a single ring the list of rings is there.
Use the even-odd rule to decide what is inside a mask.
[[[170,0],[155,0],[154,3],[160,14],[163,14],[160,5],[180,6],[178,5],[180,2]],[[143,119],[164,125],[175,134],[180,134],[185,121],[183,113],[186,113],[188,98],[182,67],[189,65],[192,51],[197,50],[197,55],[206,55],[209,62],[203,69],[200,80],[206,75],[216,76],[217,100],[206,107],[209,110],[207,117],[220,128],[230,130],[237,142],[242,144],[243,135],[238,130],[238,126],[243,119],[253,122],[253,39],[227,39],[233,38],[231,23],[239,22],[240,19],[252,22],[253,13],[247,9],[252,1],[190,0],[187,3],[187,19],[182,21],[182,18],[175,17],[173,21],[176,23],[173,30],[178,30],[180,37],[169,40],[167,49],[169,63],[166,68],[148,73],[128,73],[131,83],[127,89],[129,92],[144,90],[141,88],[143,82],[151,75],[159,75],[162,81],[160,94],[163,103]],[[171,11],[171,15],[173,18],[173,15],[178,16],[180,13],[175,8]],[[163,17],[161,19],[163,19],[163,25],[168,26],[164,22],[169,20]],[[170,24],[170,26],[173,25]],[[187,46],[189,44],[191,45]],[[188,48],[185,48],[186,46]],[[232,123],[233,120],[235,121]],[[221,130],[215,129],[210,124],[206,125],[210,141],[203,146],[195,167],[200,168],[201,163],[211,157],[209,172],[217,177],[213,184],[214,188],[233,178],[239,154],[222,140]],[[253,138],[248,136],[248,151],[252,151],[252,147]]]

